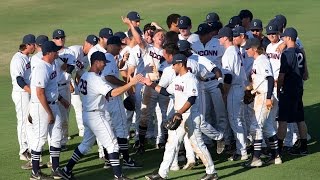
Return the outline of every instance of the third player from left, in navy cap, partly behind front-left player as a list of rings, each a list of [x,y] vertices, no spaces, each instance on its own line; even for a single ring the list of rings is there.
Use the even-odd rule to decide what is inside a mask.
[[[56,59],[55,63],[57,68],[59,95],[66,100],[58,103],[62,121],[61,151],[66,151],[66,144],[69,136],[69,106],[71,103],[71,93],[74,92],[74,86],[71,84],[71,73],[75,68],[76,58],[74,52],[64,46],[66,35],[62,29],[53,31],[52,41],[56,43],[57,46],[63,47],[59,50],[59,57]]]

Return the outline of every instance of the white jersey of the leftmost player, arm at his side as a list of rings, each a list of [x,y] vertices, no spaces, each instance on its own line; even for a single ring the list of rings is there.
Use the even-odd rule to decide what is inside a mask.
[[[10,62],[10,75],[13,91],[24,91],[18,83],[17,77],[21,76],[26,84],[30,84],[31,64],[30,57],[17,52]]]

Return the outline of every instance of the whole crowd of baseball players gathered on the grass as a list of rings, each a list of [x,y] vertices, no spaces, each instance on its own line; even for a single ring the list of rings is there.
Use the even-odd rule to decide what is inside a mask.
[[[70,47],[62,29],[51,40],[25,35],[10,74],[19,155],[27,161],[22,168],[32,170],[30,179],[73,179],[74,166],[95,142],[114,179],[130,179],[122,169],[143,168],[129,153],[132,131],[137,156],[145,153],[148,136],[164,149],[148,180],[199,162],[201,180],[219,179],[213,144],[217,154],[249,168],[282,164],[286,153],[307,155],[302,96],[308,69],[297,30],[276,15],[265,36],[249,10],[225,26],[217,13],[204,19],[195,33],[191,19],[179,14],[167,17],[168,31],[155,22],[141,30],[142,19],[132,11],[122,17],[127,32],[102,28]],[[60,167],[71,106],[83,140]],[[51,175],[41,172],[46,142]]]

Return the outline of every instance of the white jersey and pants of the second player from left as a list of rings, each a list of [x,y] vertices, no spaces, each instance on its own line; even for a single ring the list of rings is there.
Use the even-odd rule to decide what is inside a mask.
[[[55,64],[49,64],[43,60],[37,62],[37,65],[32,70],[31,78],[31,103],[30,115],[32,117],[32,132],[33,140],[31,149],[35,152],[41,152],[42,147],[49,135],[50,146],[60,148],[62,138],[62,124],[61,115],[58,107],[58,83],[57,83],[57,69]],[[54,123],[49,124],[48,113],[37,97],[36,88],[44,88],[45,97],[52,110],[54,116]],[[50,152],[51,153],[51,152]],[[56,157],[57,154],[51,154]],[[59,154],[58,154],[59,157]]]

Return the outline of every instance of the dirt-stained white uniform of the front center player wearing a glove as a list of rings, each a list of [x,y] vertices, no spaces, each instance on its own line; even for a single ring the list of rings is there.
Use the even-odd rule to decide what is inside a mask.
[[[179,110],[191,96],[198,96],[198,81],[196,77],[188,72],[182,76],[177,76],[167,88],[168,93],[174,95],[174,109]],[[191,141],[192,147],[197,156],[200,157],[206,166],[206,173],[215,173],[214,164],[211,155],[205,146],[200,131],[200,114],[198,98],[190,109],[182,114],[183,121],[177,130],[169,131],[169,138],[166,143],[166,148],[163,156],[163,161],[159,168],[159,175],[163,178],[168,176],[169,167],[173,162],[175,154],[178,153],[179,145],[183,141],[185,134]],[[177,145],[178,144],[178,145]]]

